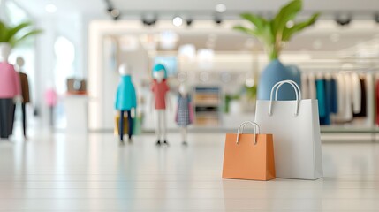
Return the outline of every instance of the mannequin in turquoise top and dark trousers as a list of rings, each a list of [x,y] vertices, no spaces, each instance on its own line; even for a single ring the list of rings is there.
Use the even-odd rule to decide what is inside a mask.
[[[137,95],[133,86],[131,69],[127,64],[121,64],[118,72],[121,79],[117,87],[115,109],[120,111],[118,133],[120,142],[124,143],[124,115],[127,113],[129,142],[132,142],[133,117],[137,107]]]

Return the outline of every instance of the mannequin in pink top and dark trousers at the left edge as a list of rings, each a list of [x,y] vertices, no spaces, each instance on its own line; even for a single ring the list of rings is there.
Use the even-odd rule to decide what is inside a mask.
[[[21,102],[19,74],[8,63],[11,45],[0,42],[0,137],[8,139],[13,126],[14,102]]]

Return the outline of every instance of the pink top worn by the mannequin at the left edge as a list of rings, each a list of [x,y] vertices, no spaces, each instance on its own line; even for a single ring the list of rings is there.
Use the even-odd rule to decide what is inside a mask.
[[[13,98],[16,95],[21,95],[19,73],[14,70],[13,65],[0,63],[0,98]]]

